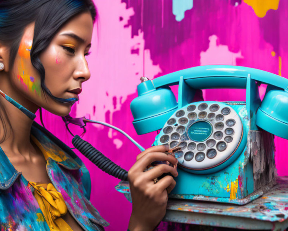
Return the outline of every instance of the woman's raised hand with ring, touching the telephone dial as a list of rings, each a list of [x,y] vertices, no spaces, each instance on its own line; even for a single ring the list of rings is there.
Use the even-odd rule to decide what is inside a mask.
[[[128,172],[128,181],[132,197],[132,213],[129,221],[130,231],[153,230],[163,219],[166,213],[168,193],[175,187],[172,176],[164,176],[157,183],[154,182],[164,173],[178,176],[176,170],[177,159],[165,154],[166,146],[154,146],[146,149],[137,156],[136,163]],[[143,172],[154,161],[168,161],[168,164],[159,164],[153,169]]]

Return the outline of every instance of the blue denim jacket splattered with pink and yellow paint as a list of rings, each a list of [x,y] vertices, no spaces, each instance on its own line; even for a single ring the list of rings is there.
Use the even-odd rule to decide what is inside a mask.
[[[49,154],[46,169],[54,187],[62,194],[71,215],[86,231],[108,226],[90,203],[90,175],[77,155],[45,128],[33,123],[31,135],[40,149]],[[0,148],[0,225],[1,231],[49,231],[33,189],[13,167]]]

